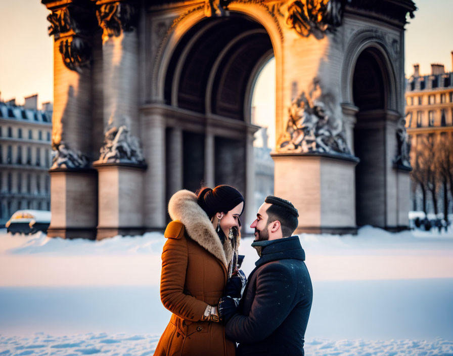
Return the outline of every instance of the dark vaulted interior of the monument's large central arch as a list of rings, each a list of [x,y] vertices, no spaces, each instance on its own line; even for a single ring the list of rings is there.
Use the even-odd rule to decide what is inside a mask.
[[[157,90],[173,111],[166,141],[174,139],[175,128],[183,128],[182,179],[167,187],[165,199],[180,188],[196,191],[202,185],[230,184],[253,201],[257,127],[251,122],[251,97],[259,71],[274,56],[272,40],[261,23],[243,12],[184,21],[192,25],[166,50]],[[172,160],[167,155],[167,167]],[[172,174],[167,170],[167,181]],[[255,213],[252,208],[248,204],[247,219]]]

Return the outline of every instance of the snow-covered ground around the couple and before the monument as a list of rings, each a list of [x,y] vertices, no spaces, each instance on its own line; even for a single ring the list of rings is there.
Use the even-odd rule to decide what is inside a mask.
[[[453,355],[453,231],[300,239],[314,291],[307,355]],[[0,230],[0,355],[152,354],[170,315],[164,242]],[[251,242],[240,246],[246,274]]]

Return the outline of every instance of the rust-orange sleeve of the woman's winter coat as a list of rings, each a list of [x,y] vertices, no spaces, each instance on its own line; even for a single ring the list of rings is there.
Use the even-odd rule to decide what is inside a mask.
[[[178,317],[200,321],[208,304],[184,294],[187,262],[186,237],[167,239],[162,251],[160,299],[165,308]]]

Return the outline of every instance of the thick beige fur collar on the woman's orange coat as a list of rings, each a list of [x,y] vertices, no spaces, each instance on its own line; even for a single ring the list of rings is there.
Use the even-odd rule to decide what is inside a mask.
[[[233,257],[230,240],[222,243],[215,232],[208,215],[197,203],[197,196],[186,189],[173,194],[168,202],[168,213],[172,220],[183,223],[190,238],[218,258],[228,270]]]

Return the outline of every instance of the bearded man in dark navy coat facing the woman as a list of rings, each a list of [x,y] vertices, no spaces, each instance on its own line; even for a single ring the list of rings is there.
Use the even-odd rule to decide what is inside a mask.
[[[303,355],[313,291],[305,252],[291,236],[299,214],[289,201],[268,196],[256,216],[250,227],[260,258],[238,309],[232,298],[221,299],[225,335],[239,342],[239,355]]]

